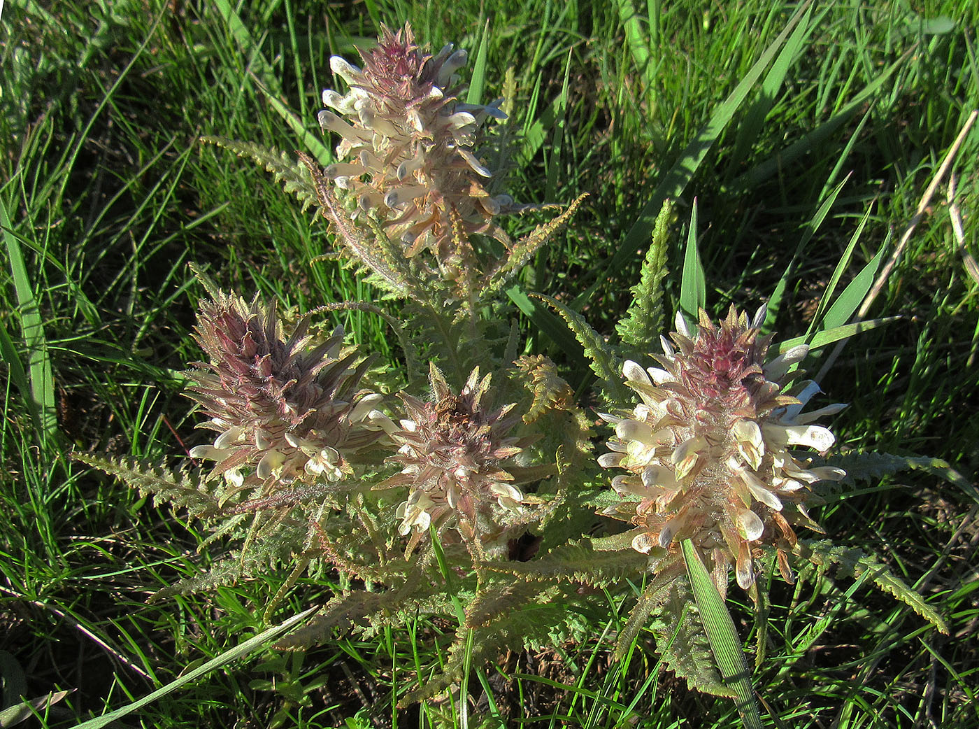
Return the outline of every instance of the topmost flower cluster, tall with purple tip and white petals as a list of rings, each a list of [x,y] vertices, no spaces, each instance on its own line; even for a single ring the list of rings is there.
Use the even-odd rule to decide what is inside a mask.
[[[496,104],[461,103],[456,72],[466,52],[448,44],[425,54],[409,25],[396,33],[385,27],[378,46],[361,55],[363,69],[330,60],[350,89],[323,91],[329,109],[319,113],[320,125],[341,137],[339,162],[325,175],[349,191],[355,217],[372,212],[406,256],[427,248],[443,276],[454,278],[471,256],[473,233],[508,242],[493,217],[513,201],[489,194],[492,172],[476,149],[483,122],[505,115]]]

